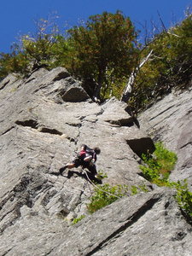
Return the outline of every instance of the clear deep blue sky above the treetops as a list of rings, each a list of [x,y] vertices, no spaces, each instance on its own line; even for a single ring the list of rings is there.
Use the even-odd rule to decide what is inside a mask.
[[[134,25],[150,20],[158,22],[158,12],[166,27],[183,20],[184,10],[192,6],[192,0],[2,0],[0,8],[0,52],[9,52],[11,44],[20,35],[34,33],[34,20],[46,19],[57,12],[60,28],[67,24],[77,25],[79,20],[87,20],[90,15],[103,11],[115,13],[121,10],[131,18]]]

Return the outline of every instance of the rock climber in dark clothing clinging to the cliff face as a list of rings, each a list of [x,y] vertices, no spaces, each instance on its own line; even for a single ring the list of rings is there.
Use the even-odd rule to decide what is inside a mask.
[[[87,168],[90,171],[92,177],[97,177],[96,155],[100,154],[100,152],[101,150],[98,147],[91,149],[85,144],[81,145],[78,156],[71,163],[61,167],[60,174],[62,175],[67,168],[72,169],[73,167],[82,166],[83,169]]]

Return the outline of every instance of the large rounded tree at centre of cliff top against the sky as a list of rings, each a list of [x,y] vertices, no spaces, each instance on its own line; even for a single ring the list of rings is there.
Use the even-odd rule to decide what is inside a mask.
[[[73,73],[84,79],[85,86],[91,81],[87,89],[93,96],[100,99],[114,79],[129,76],[136,61],[137,32],[121,12],[90,16],[85,26],[68,32],[76,52]]]

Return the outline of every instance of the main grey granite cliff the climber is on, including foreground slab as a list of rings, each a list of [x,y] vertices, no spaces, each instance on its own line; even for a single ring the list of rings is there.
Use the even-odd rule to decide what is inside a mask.
[[[139,129],[126,109],[114,98],[92,102],[62,67],[39,69],[25,80],[14,74],[3,79],[0,255],[190,255],[191,226],[174,191],[152,189],[140,175],[141,154],[153,152],[154,143],[148,126],[141,120]],[[81,168],[71,177],[56,175],[82,143],[101,148],[96,166],[108,175],[103,183],[145,184],[151,191],[89,215],[94,185]]]

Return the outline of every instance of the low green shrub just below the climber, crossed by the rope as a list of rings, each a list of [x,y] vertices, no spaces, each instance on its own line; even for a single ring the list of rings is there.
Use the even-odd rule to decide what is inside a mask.
[[[126,185],[111,186],[108,183],[97,185],[94,195],[90,198],[90,204],[87,205],[88,211],[90,213],[96,212],[102,207],[106,207],[113,203],[113,201],[118,200],[120,197],[125,196],[126,192]]]

